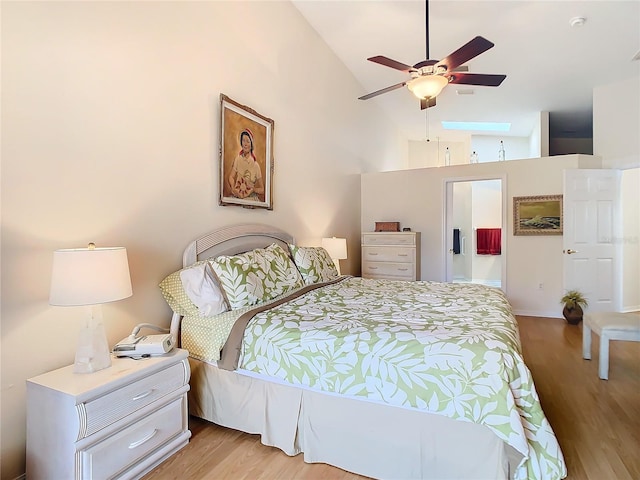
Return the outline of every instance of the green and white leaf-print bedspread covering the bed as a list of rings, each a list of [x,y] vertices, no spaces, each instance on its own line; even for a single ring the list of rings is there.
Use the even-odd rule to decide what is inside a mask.
[[[242,348],[248,371],[486,425],[517,479],[566,476],[498,289],[348,278],[258,313]]]

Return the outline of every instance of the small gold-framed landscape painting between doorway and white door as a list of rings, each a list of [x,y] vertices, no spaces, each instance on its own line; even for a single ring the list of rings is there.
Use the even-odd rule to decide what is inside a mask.
[[[513,197],[514,235],[562,235],[562,195]]]

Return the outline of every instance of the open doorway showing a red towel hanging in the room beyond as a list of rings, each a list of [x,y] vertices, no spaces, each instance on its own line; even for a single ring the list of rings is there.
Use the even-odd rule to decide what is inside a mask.
[[[505,182],[503,176],[445,180],[445,281],[506,290]],[[498,236],[490,249],[488,234]]]

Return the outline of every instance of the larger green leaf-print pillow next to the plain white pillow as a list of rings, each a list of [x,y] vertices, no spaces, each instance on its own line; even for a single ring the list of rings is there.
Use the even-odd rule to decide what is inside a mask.
[[[232,309],[257,305],[304,285],[287,253],[276,244],[210,259]]]

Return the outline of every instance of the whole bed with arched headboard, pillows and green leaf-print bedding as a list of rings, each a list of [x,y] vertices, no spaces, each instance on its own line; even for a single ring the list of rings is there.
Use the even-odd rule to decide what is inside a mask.
[[[500,290],[339,276],[324,254],[253,224],[188,245],[160,288],[191,415],[372,478],[566,476]]]

